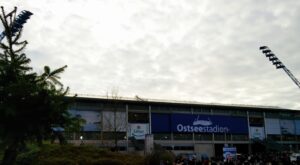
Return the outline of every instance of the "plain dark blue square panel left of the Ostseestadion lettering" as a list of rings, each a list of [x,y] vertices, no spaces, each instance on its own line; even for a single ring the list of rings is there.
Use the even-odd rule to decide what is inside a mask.
[[[170,115],[151,113],[151,131],[153,133],[171,132]]]

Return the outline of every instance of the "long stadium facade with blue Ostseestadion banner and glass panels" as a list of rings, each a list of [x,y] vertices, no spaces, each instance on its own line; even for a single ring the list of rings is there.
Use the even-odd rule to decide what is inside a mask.
[[[297,110],[138,97],[70,99],[70,113],[86,120],[81,132],[65,132],[72,143],[113,147],[117,139],[119,150],[134,151],[144,150],[145,139],[151,137],[154,143],[175,154],[197,153],[209,157],[222,155],[224,146],[236,147],[238,153],[266,148],[300,149]]]

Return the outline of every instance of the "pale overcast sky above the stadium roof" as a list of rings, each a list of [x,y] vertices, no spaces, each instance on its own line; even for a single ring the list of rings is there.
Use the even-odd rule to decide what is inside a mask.
[[[297,0],[5,0],[24,25],[35,71],[68,65],[71,93],[279,106],[300,90],[259,51],[300,78]],[[1,27],[2,28],[2,27]]]

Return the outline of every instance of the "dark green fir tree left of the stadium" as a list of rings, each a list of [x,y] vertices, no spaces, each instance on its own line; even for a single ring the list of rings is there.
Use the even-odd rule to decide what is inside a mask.
[[[27,41],[20,41],[22,31],[14,31],[17,8],[0,19],[5,40],[0,43],[0,142],[5,146],[2,164],[13,164],[26,141],[42,144],[53,127],[70,121],[64,97],[68,88],[59,81],[67,66],[37,74],[25,55]]]

